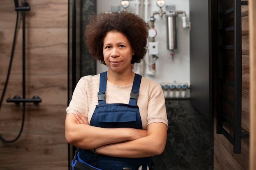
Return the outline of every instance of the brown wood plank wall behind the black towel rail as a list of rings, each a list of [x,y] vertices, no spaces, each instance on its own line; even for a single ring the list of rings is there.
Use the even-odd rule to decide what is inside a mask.
[[[225,1],[226,2],[226,1]],[[233,0],[230,0],[233,5]],[[249,132],[249,24],[248,24],[248,6],[242,6],[242,132]],[[233,16],[234,17],[234,16]],[[234,18],[227,18],[229,22]],[[233,21],[232,21],[233,22]],[[233,35],[232,35],[233,36]],[[232,41],[234,38],[229,38],[227,35],[226,41]],[[227,54],[230,55],[230,54]],[[230,57],[231,58],[231,57]],[[229,59],[230,59],[229,58]],[[230,76],[229,68],[234,69],[232,61],[227,61],[226,76],[232,81],[232,73]],[[216,76],[215,76],[216,77]],[[234,91],[227,90],[226,95],[232,97]],[[234,95],[233,95],[234,96]],[[215,106],[216,107],[216,106]],[[231,111],[226,108],[225,111]],[[214,170],[249,170],[249,139],[242,139],[241,154],[234,154],[233,145],[224,137],[224,135],[216,134],[216,109],[214,110]],[[232,116],[232,115],[231,115]],[[234,116],[234,115],[233,115]],[[232,129],[226,126],[227,129]]]

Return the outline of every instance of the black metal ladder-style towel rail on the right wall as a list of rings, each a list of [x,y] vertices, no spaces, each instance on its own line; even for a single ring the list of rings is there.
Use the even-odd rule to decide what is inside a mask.
[[[242,30],[241,5],[248,5],[248,1],[234,0],[233,7],[229,7],[231,0],[218,0],[218,102],[216,132],[224,135],[234,146],[234,153],[241,153],[241,139],[249,138],[249,132],[242,132]],[[231,22],[231,19],[233,21]],[[227,40],[227,35],[234,35]],[[228,63],[228,64],[227,64]],[[227,69],[229,64],[233,67]],[[233,70],[232,70],[233,69]],[[231,72],[229,75],[227,72]],[[227,93],[229,89],[230,95]],[[228,108],[228,109],[227,109]],[[224,122],[233,127],[233,133],[228,132]]]

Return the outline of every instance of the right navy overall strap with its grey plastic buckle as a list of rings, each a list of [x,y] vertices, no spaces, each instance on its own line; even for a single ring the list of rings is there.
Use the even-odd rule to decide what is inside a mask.
[[[139,97],[139,86],[141,82],[141,75],[138,75],[135,73],[135,77],[132,84],[132,91],[130,95],[130,102],[129,105],[136,106],[137,105],[137,99]]]

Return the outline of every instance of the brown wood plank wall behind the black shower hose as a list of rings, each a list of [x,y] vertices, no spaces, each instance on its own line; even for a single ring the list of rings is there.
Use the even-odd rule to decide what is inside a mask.
[[[67,170],[65,109],[67,107],[67,0],[27,0],[26,98],[20,138],[0,141],[0,170]],[[19,0],[21,6],[21,0]],[[22,12],[19,12],[16,48],[7,91],[0,107],[0,134],[13,140],[21,127],[22,104],[7,103],[22,97]],[[7,76],[16,21],[13,0],[0,0],[0,95]]]

